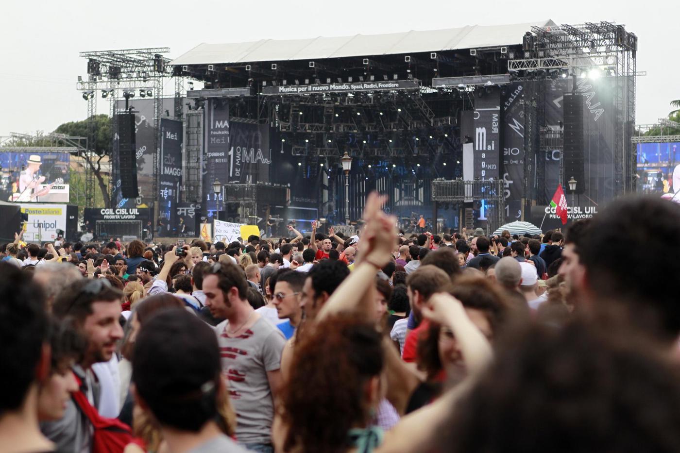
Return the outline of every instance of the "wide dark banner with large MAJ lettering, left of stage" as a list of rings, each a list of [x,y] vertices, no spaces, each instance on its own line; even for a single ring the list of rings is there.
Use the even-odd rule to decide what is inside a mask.
[[[269,182],[269,127],[232,121],[229,128],[228,182]]]

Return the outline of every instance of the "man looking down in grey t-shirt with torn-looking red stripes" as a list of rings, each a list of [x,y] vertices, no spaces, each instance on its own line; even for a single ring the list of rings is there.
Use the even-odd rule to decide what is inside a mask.
[[[216,333],[237,414],[236,438],[249,450],[273,452],[271,422],[286,339],[248,303],[241,267],[215,263],[203,274],[203,292],[211,315],[224,319]]]

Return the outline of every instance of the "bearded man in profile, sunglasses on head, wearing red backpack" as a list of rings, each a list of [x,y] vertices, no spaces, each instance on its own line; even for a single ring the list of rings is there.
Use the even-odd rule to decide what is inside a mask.
[[[118,322],[121,299],[122,292],[112,287],[108,280],[81,279],[65,288],[52,305],[54,316],[72,319],[87,340],[87,350],[80,363],[73,367],[73,373],[82,382],[90,405],[96,409],[104,401],[103,395],[112,389],[103,385],[105,381],[92,371],[92,365],[111,360],[116,343],[123,336]],[[61,420],[41,424],[41,431],[56,443],[59,452],[91,450],[92,426],[73,400],[69,401]]]

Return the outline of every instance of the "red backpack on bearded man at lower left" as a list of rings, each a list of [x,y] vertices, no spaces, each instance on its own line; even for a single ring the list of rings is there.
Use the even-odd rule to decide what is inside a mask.
[[[80,387],[81,380],[78,375],[75,375],[75,380]],[[90,450],[92,453],[122,453],[129,443],[137,443],[130,426],[116,418],[106,418],[99,415],[97,409],[92,407],[82,390],[73,393],[73,401],[95,428],[95,433],[92,436],[92,449]]]

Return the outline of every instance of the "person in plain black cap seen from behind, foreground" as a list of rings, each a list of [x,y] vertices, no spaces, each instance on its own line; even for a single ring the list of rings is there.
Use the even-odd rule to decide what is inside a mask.
[[[148,320],[135,341],[132,381],[141,409],[153,414],[171,452],[245,452],[216,422],[227,392],[214,331],[184,310]]]

